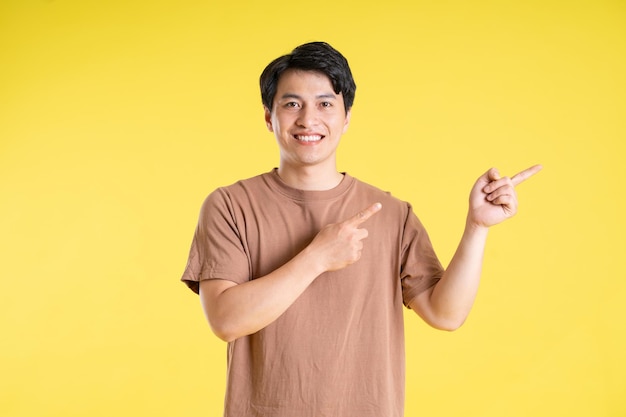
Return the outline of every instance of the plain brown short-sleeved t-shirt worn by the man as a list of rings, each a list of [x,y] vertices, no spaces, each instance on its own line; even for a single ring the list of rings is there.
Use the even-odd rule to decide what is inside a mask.
[[[276,321],[228,344],[225,417],[401,417],[402,305],[443,273],[411,206],[348,174],[302,191],[276,170],[205,200],[182,280],[244,283],[375,202],[361,259],[320,275]]]

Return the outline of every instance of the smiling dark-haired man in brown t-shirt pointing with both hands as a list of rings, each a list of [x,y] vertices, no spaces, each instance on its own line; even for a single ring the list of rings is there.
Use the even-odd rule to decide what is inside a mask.
[[[514,176],[470,195],[445,270],[408,203],[337,171],[356,86],[326,43],[261,75],[277,169],[211,193],[182,280],[228,342],[227,417],[400,417],[403,304],[435,328],[466,319],[489,226],[516,212]]]

